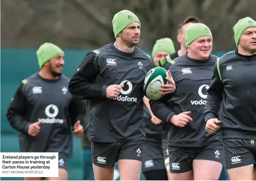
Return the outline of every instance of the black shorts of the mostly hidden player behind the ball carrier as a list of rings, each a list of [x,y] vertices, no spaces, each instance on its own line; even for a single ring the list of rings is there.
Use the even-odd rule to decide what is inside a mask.
[[[162,144],[156,144],[146,140],[144,142],[142,172],[162,169],[166,169],[164,166]]]

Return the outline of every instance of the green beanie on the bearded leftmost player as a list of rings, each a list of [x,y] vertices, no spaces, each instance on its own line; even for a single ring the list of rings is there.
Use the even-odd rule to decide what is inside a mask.
[[[39,49],[36,51],[40,69],[46,62],[48,62],[52,57],[55,57],[58,54],[64,55],[64,52],[55,44],[44,43],[43,45],[41,45]]]

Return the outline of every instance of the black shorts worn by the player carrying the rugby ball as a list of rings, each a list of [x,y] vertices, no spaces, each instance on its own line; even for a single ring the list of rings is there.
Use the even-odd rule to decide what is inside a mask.
[[[142,161],[144,141],[93,142],[92,163],[99,167],[114,167],[119,159]]]

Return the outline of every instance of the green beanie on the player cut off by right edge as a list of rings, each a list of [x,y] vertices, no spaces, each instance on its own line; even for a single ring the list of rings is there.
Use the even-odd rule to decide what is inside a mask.
[[[234,39],[236,41],[236,45],[238,46],[240,37],[242,36],[243,32],[250,27],[256,27],[255,20],[251,19],[250,17],[246,17],[240,19],[235,26],[233,27],[234,31]]]

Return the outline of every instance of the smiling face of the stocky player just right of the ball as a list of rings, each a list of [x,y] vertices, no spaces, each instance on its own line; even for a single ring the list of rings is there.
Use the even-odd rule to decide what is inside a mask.
[[[199,60],[206,60],[212,52],[212,37],[199,37],[189,45],[189,49]]]

